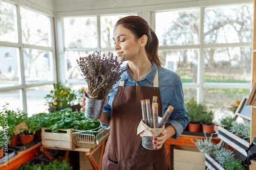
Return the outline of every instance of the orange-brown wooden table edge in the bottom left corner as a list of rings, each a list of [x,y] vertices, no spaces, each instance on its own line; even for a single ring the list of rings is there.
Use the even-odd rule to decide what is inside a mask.
[[[13,168],[18,168],[22,163],[28,162],[31,159],[33,159],[35,156],[40,154],[39,147],[41,145],[41,142],[33,145],[29,149],[25,151],[19,151],[16,156],[8,160],[8,166],[6,166],[4,163],[0,164],[1,170],[8,170]]]

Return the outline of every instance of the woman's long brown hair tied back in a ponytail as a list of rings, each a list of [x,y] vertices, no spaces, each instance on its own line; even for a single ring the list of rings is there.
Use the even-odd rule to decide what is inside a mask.
[[[147,58],[153,61],[156,65],[161,66],[162,63],[158,56],[158,38],[155,32],[148,26],[148,23],[139,16],[126,16],[116,22],[116,26],[122,25],[129,29],[136,38],[141,38],[143,35],[147,36],[147,43],[145,46]]]

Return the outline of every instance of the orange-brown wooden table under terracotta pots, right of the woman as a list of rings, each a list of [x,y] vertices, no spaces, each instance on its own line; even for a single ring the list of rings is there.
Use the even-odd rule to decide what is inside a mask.
[[[173,162],[174,162],[174,147],[175,147],[175,145],[185,145],[185,146],[190,146],[190,147],[196,147],[196,145],[191,141],[191,139],[193,141],[196,141],[196,138],[197,139],[200,139],[200,138],[204,139],[205,136],[194,136],[194,135],[181,134],[178,139],[168,138],[164,142],[169,167],[170,167],[171,170],[174,168],[173,167]],[[207,138],[209,138],[209,137],[207,137]],[[220,138],[212,137],[211,141],[213,141],[215,143],[218,143],[218,142],[220,142]]]

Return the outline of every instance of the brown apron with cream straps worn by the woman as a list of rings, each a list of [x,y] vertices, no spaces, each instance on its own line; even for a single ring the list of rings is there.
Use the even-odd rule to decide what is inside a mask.
[[[159,150],[147,150],[142,147],[141,137],[137,135],[137,127],[142,119],[140,100],[150,99],[152,103],[153,96],[158,96],[158,113],[162,116],[158,72],[155,75],[154,87],[118,87],[112,103],[111,134],[103,155],[103,170],[168,169],[164,144]]]

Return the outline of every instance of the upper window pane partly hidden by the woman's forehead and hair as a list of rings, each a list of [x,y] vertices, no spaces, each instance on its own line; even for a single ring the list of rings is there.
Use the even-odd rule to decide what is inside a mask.
[[[116,22],[128,15],[101,16],[100,17],[100,45],[101,47],[114,47],[113,31]]]

